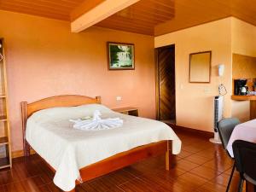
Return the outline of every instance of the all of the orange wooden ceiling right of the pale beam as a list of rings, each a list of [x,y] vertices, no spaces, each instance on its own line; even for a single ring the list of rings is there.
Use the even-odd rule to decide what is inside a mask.
[[[121,12],[131,16],[119,12],[96,26],[159,36],[229,16],[256,25],[255,0],[141,0]]]

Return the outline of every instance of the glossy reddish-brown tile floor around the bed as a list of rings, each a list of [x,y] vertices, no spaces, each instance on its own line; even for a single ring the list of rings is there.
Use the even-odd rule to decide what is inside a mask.
[[[225,191],[232,160],[220,145],[207,137],[177,132],[183,141],[177,166],[165,170],[165,157],[144,160],[77,187],[78,192],[207,192]],[[0,192],[61,191],[52,183],[54,174],[37,155],[14,160],[11,170],[0,172]],[[236,172],[230,191],[236,191]]]

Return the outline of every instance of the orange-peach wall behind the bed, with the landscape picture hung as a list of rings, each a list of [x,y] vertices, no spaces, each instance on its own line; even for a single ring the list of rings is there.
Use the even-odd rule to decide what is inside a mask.
[[[155,117],[154,38],[90,28],[71,33],[70,24],[0,11],[5,39],[13,150],[22,148],[20,102],[48,96],[102,96],[109,108],[135,106]],[[108,71],[107,41],[135,44],[136,69]],[[116,102],[116,96],[122,96]]]

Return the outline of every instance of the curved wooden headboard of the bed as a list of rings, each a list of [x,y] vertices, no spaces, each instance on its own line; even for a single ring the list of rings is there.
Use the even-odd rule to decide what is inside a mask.
[[[96,96],[95,98],[92,98],[89,96],[64,95],[64,96],[51,96],[51,97],[47,97],[32,103],[21,102],[20,104],[21,104],[24,155],[27,156],[30,153],[30,146],[28,143],[26,143],[25,132],[26,132],[26,120],[32,115],[32,113],[35,113],[45,108],[75,107],[79,105],[92,104],[92,103],[100,104],[101,96]]]

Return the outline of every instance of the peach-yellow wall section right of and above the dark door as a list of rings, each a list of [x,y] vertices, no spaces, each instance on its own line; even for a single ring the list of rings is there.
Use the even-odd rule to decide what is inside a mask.
[[[213,21],[154,38],[154,47],[175,44],[177,125],[213,131],[213,97],[218,84],[228,90],[224,96],[224,117],[231,115],[231,19]],[[189,83],[189,54],[212,50],[210,84]],[[218,65],[225,66],[223,78]]]

